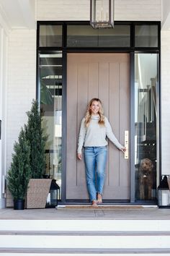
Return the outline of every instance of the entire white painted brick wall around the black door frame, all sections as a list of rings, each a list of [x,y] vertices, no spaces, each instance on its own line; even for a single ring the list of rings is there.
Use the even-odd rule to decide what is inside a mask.
[[[37,0],[37,20],[89,20],[89,0]],[[115,0],[115,20],[161,20],[161,0]],[[13,30],[9,35],[7,91],[7,166],[14,140],[27,121],[25,111],[35,98],[35,30]],[[169,173],[170,149],[170,32],[161,33],[162,166]]]

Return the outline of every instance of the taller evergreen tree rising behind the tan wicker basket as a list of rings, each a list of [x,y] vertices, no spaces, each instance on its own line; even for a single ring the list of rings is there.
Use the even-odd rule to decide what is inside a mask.
[[[32,108],[27,111],[28,121],[25,125],[26,138],[30,142],[30,165],[32,179],[41,179],[45,173],[45,142],[47,137],[43,135],[41,127],[42,116],[37,101],[32,101]]]

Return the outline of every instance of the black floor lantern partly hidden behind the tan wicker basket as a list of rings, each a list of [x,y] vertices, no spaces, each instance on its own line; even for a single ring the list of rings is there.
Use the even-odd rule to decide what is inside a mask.
[[[58,205],[58,195],[60,196],[60,187],[56,183],[56,180],[52,179],[46,208],[55,208]]]

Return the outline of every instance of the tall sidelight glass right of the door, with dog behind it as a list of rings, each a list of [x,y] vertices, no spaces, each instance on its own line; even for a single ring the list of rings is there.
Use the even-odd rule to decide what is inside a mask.
[[[158,55],[135,54],[135,199],[156,200]]]

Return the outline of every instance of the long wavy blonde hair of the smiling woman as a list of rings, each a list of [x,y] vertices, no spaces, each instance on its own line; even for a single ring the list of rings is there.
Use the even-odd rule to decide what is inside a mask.
[[[87,110],[86,110],[85,121],[84,121],[86,127],[89,127],[89,123],[91,121],[92,112],[91,112],[90,108],[94,101],[97,101],[99,103],[99,112],[98,112],[99,121],[98,121],[98,123],[99,123],[99,125],[104,126],[104,111],[102,108],[102,101],[100,101],[99,98],[92,98],[91,101],[89,101],[89,104],[88,104]]]

